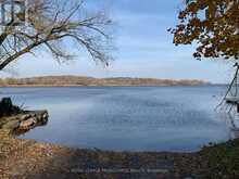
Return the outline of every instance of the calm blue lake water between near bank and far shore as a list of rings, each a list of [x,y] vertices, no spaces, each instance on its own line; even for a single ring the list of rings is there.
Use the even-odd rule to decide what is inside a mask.
[[[197,151],[231,138],[214,108],[225,87],[0,88],[26,110],[49,111],[47,126],[20,136],[115,151]]]

